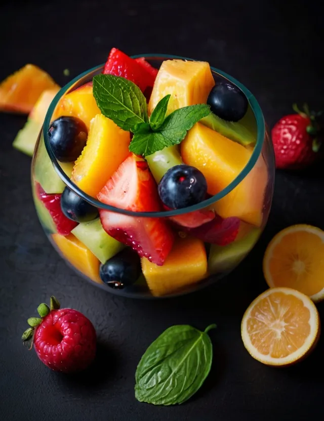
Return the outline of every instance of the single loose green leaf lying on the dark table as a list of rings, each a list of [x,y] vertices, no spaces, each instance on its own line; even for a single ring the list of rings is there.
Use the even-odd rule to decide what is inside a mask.
[[[196,393],[212,365],[209,328],[201,332],[188,325],[177,325],[165,330],[148,347],[137,366],[136,399],[154,405],[174,405]]]

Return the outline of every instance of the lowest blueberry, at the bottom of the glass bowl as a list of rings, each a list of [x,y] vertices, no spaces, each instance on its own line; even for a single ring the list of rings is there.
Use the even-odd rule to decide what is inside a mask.
[[[101,280],[114,289],[123,289],[137,281],[141,274],[141,260],[131,248],[127,247],[100,265]]]

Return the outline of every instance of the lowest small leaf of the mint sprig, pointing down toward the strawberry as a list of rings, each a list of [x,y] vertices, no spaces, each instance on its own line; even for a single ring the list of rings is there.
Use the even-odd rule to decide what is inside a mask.
[[[171,145],[172,143],[158,132],[136,133],[130,144],[130,151],[146,156]]]

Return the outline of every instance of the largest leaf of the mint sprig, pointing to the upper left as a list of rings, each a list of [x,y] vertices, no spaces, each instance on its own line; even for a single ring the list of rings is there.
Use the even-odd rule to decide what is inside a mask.
[[[147,104],[135,83],[112,74],[93,78],[93,95],[102,114],[121,129],[132,131],[138,123],[147,123]]]

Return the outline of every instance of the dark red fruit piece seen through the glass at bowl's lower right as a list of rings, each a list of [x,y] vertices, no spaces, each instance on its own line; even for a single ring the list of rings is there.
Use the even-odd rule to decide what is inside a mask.
[[[189,230],[194,237],[206,243],[227,245],[235,240],[240,220],[236,217],[223,219],[216,215],[213,221]]]

